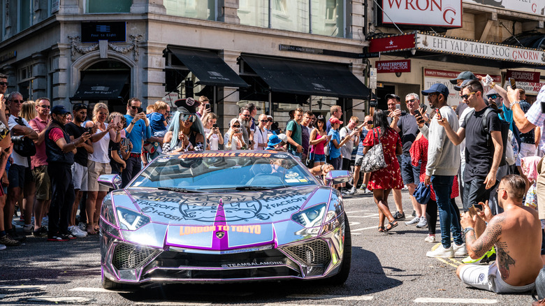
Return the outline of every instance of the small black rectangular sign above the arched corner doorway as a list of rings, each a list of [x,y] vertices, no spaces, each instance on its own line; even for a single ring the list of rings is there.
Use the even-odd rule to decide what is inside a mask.
[[[126,41],[126,22],[82,22],[82,43]]]

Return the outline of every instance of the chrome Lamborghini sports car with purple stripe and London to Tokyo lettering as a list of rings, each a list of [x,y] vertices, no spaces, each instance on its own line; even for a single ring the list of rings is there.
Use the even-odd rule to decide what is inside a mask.
[[[330,184],[348,171],[331,171]],[[118,175],[101,184],[118,188]],[[163,155],[101,208],[106,289],[124,284],[348,277],[340,194],[281,152]]]

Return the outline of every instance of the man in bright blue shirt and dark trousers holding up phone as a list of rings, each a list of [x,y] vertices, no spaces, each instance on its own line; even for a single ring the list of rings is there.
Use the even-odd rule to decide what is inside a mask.
[[[142,102],[138,98],[131,98],[126,104],[125,119],[127,124],[133,125],[131,132],[126,132],[126,138],[133,145],[131,155],[129,159],[125,161],[126,168],[121,173],[121,179],[123,187],[133,179],[136,173],[142,169],[142,163],[140,162],[140,156],[142,155],[142,143],[143,140],[152,136],[152,129],[150,128],[150,121],[147,119],[145,112],[138,112],[138,108],[142,105]],[[127,126],[127,127],[129,127]]]

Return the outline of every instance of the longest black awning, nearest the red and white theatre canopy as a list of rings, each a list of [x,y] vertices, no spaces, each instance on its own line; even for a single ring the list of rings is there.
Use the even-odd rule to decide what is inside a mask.
[[[249,55],[243,55],[242,59],[272,92],[369,99],[368,87],[349,71],[348,66]]]

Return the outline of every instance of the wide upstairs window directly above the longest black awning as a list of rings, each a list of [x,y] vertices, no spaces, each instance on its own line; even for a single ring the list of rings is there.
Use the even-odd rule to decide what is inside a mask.
[[[344,10],[342,0],[240,0],[238,17],[254,27],[344,37]]]

